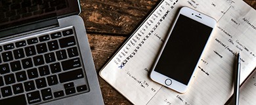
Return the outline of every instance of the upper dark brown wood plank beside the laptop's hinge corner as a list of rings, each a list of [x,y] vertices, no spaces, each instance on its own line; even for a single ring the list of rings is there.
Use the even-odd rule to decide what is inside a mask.
[[[89,33],[129,35],[159,0],[81,0],[81,17]]]

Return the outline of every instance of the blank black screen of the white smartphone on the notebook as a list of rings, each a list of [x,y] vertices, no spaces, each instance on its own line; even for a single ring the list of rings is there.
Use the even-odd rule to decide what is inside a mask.
[[[155,71],[188,85],[212,30],[180,14]]]

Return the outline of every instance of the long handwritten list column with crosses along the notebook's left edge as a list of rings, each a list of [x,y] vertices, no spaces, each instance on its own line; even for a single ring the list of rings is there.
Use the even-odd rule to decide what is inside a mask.
[[[129,62],[129,60],[133,58],[135,54],[138,53],[140,48],[150,38],[151,35],[155,33],[154,35],[161,39],[161,37],[158,36],[155,31],[156,29],[158,29],[161,23],[164,22],[165,18],[167,18],[170,12],[167,8],[170,7],[170,9],[173,9],[177,2],[178,0],[171,4],[165,1],[165,6],[167,7],[161,5],[158,11],[156,11],[156,13],[152,14],[152,16],[148,18],[146,24],[141,27],[142,29],[135,33],[135,37],[131,37],[131,40],[127,43],[127,45],[124,46],[125,49],[123,49],[123,51],[121,51],[121,54],[119,54],[116,60],[114,60],[114,62],[119,65],[118,68],[123,68],[123,66],[125,66],[125,64]],[[125,59],[123,60],[123,62],[121,62],[121,59],[123,57],[125,57]]]

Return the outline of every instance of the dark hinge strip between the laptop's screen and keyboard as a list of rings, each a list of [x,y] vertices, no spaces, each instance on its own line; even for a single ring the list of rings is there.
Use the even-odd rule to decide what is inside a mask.
[[[57,17],[48,20],[43,20],[40,22],[35,22],[33,24],[26,24],[24,26],[11,28],[9,30],[0,31],[0,35],[1,37],[9,37],[11,35],[16,35],[20,33],[33,33],[35,31],[46,30],[48,28],[53,28],[56,26],[59,26]]]

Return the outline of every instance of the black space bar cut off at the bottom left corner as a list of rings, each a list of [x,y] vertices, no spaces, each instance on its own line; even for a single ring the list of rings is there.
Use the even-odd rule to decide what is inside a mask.
[[[0,104],[27,104],[25,95],[13,96],[0,100]]]

